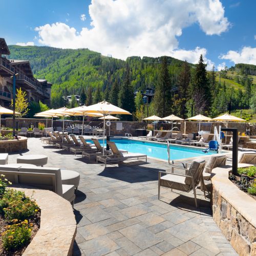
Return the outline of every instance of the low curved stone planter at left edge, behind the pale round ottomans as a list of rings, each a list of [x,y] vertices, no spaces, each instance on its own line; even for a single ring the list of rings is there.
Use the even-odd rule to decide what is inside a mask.
[[[0,140],[0,153],[22,152],[28,149],[27,137],[18,136],[17,140]]]

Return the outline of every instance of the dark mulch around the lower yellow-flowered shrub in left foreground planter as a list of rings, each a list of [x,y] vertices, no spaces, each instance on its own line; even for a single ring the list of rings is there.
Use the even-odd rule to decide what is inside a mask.
[[[33,237],[36,235],[37,231],[40,228],[40,212],[38,211],[37,214],[35,216],[33,216],[32,218],[28,219],[28,223],[33,223],[33,229],[31,231],[31,240],[33,239]],[[8,223],[5,219],[3,219],[3,217],[0,215],[0,234],[2,234],[5,231],[5,226],[10,225],[10,223]],[[31,241],[30,240],[30,241]],[[0,237],[0,255],[1,256],[19,256],[22,255],[24,253],[24,251],[26,250],[26,248],[28,247],[25,246],[23,248],[20,248],[17,251],[6,251],[3,248],[3,242],[2,239]]]

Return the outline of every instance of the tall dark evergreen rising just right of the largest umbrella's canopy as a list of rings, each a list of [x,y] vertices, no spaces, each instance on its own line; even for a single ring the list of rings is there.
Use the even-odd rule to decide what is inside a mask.
[[[119,94],[118,94],[118,106],[119,108],[127,110],[130,113],[134,113],[136,110],[135,103],[134,103],[134,90],[130,82],[129,67],[127,67],[126,69],[124,82],[122,83]],[[127,121],[131,121],[132,115],[125,115],[123,119]]]

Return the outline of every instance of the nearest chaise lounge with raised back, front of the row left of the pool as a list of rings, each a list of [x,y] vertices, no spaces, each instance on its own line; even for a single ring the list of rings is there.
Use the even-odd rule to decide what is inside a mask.
[[[147,155],[140,154],[140,153],[127,153],[123,155],[117,148],[116,143],[114,141],[107,142],[111,148],[112,154],[108,156],[97,156],[96,162],[102,162],[105,164],[107,163],[118,163],[123,162],[125,160],[133,160],[133,159],[141,159],[145,158],[147,161]]]

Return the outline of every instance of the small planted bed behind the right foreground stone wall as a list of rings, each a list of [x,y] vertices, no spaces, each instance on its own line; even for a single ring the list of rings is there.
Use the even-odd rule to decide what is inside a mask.
[[[229,174],[229,180],[256,200],[256,166],[240,167],[238,174]]]

